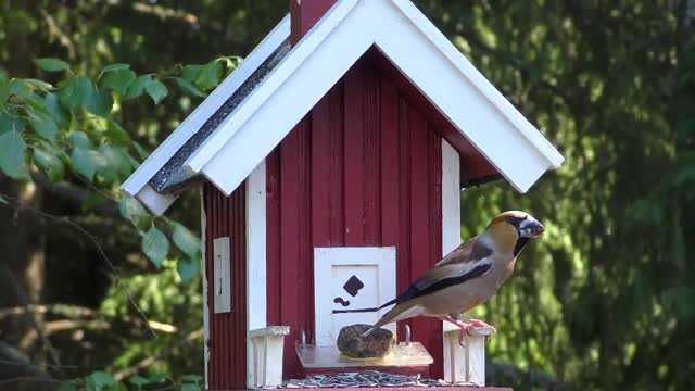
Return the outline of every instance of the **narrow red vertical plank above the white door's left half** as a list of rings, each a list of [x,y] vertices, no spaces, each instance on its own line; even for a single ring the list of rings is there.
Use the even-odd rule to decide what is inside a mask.
[[[330,122],[330,242],[333,245],[345,244],[345,123],[343,81],[338,81],[326,98],[329,105]]]

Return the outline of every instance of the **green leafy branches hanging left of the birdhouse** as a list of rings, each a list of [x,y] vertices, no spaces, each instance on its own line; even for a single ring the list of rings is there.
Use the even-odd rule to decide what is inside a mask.
[[[127,64],[111,64],[93,79],[75,74],[62,60],[38,59],[36,64],[64,77],[55,86],[33,78],[0,77],[0,172],[30,181],[33,166],[51,182],[72,174],[92,186],[98,197],[117,200],[118,186],[147,154],[116,121],[117,106],[144,97],[159,104],[168,96],[165,83],[169,80],[185,86],[181,90],[188,94],[204,97],[203,91],[215,88],[236,60],[178,66],[161,77],[137,75]],[[142,236],[142,252],[155,266],[162,265],[172,248],[160,225],[173,231],[184,280],[198,274],[199,263],[191,261],[201,254],[197,236],[179,223],[151,215],[135,199],[122,198],[121,211]]]

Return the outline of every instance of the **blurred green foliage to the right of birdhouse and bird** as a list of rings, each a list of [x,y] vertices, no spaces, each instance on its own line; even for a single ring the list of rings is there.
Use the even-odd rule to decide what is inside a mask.
[[[506,209],[548,228],[477,314],[491,356],[579,389],[692,389],[693,2],[420,3],[567,160],[525,195],[463,193],[465,238]]]

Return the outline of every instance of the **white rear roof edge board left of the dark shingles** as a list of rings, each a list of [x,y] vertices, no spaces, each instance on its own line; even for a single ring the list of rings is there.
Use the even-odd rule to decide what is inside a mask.
[[[121,191],[136,197],[174,154],[205,124],[232,93],[270,56],[290,36],[288,14],[258,46],[237,66],[213,92],[157,147],[154,152],[121,186]],[[150,192],[147,192],[150,194]],[[150,194],[152,195],[152,194]],[[170,195],[166,195],[167,202]],[[143,203],[152,197],[142,198]],[[150,207],[150,205],[147,205]]]

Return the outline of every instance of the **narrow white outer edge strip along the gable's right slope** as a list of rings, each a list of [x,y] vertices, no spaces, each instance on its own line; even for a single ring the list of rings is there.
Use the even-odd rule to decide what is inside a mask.
[[[462,71],[481,93],[494,104],[521,134],[545,156],[553,168],[559,168],[565,157],[543,137],[515,106],[478,71],[444,34],[422,14],[409,0],[391,0],[437,46],[437,48]]]

